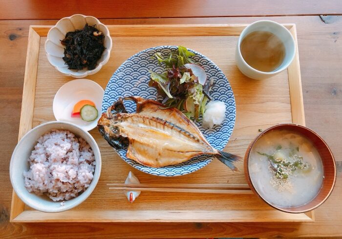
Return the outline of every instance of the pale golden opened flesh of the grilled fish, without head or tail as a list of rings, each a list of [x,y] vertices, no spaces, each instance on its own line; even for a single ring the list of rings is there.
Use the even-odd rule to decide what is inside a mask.
[[[188,131],[160,118],[117,114],[111,123],[128,138],[127,157],[149,167],[175,165],[203,154],[216,154]]]

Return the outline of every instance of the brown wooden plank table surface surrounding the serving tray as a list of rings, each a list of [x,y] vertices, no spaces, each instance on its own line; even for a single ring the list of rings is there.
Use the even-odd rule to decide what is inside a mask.
[[[57,2],[57,1],[56,1]],[[0,238],[342,237],[342,2],[340,0],[1,1]],[[51,4],[51,3],[50,3]],[[93,4],[93,5],[92,5]],[[297,24],[306,126],[330,145],[338,178],[309,223],[9,223],[9,162],[17,144],[28,27],[75,13],[104,24]],[[113,70],[114,71],[114,70]]]

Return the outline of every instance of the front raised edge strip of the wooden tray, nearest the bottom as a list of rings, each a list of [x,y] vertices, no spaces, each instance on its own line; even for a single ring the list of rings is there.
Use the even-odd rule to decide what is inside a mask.
[[[80,217],[82,214],[83,217]],[[13,222],[250,222],[250,218],[260,222],[307,222],[311,218],[305,214],[288,214],[277,210],[248,211],[117,211],[117,210],[81,210],[62,213],[43,213],[39,211],[24,211]]]

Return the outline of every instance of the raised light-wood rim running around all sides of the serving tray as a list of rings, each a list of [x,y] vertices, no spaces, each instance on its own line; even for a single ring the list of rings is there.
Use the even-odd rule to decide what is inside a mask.
[[[292,122],[305,125],[299,53],[295,24],[284,24],[296,42],[296,56],[288,68]],[[36,91],[36,77],[41,37],[47,35],[51,26],[32,25],[29,29],[24,74],[19,140],[32,128]],[[111,36],[234,36],[239,35],[246,24],[182,24],[182,25],[108,25]],[[113,215],[115,213],[115,215]],[[67,218],[67,219],[66,219]],[[84,219],[84,218],[92,218]],[[276,210],[260,211],[73,211],[43,213],[24,211],[24,203],[12,194],[11,222],[305,222],[314,221],[314,212],[287,214]]]

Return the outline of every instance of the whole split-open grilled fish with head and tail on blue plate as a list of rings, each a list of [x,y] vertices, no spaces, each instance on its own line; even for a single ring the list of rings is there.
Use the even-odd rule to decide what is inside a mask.
[[[214,149],[194,122],[176,108],[139,96],[124,99],[135,101],[136,113],[127,113],[120,98],[102,114],[97,126],[112,147],[128,146],[129,159],[148,167],[164,167],[208,155],[237,170],[233,163],[241,157]]]

